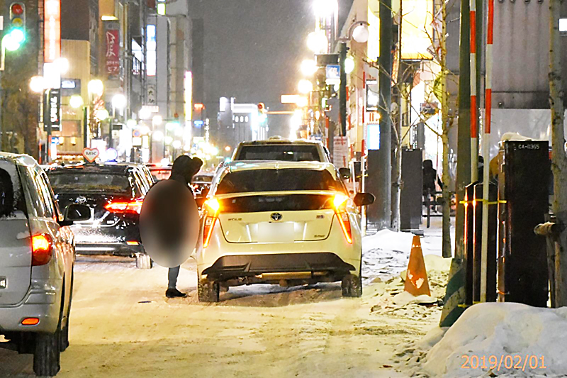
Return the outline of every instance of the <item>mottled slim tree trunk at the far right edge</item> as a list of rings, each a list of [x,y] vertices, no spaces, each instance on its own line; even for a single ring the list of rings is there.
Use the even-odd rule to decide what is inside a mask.
[[[551,168],[554,172],[553,211],[561,228],[567,225],[567,157],[563,130],[563,78],[561,77],[561,0],[549,0],[549,106],[551,108]],[[486,169],[486,168],[485,168]],[[567,306],[567,230],[558,235],[555,254],[556,307]]]

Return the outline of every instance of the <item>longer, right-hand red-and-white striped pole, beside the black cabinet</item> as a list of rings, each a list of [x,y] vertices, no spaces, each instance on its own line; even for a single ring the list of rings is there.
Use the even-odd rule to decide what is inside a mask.
[[[483,228],[481,248],[481,302],[486,301],[486,274],[488,266],[488,180],[490,178],[490,120],[492,110],[492,67],[493,67],[494,0],[488,0],[488,21],[486,23],[486,77],[485,77],[485,118],[483,125],[482,150],[483,169]]]

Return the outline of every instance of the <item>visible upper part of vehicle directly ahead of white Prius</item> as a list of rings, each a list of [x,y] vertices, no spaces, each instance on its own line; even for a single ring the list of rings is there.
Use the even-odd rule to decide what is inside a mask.
[[[232,154],[232,161],[238,160],[331,161],[329,151],[317,140],[288,140],[280,137],[240,143]]]

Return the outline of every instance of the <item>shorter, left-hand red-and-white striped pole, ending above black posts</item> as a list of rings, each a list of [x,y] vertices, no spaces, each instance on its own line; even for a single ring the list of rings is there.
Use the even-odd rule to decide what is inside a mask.
[[[471,23],[471,182],[478,180],[478,115],[476,114],[476,0],[468,2]]]

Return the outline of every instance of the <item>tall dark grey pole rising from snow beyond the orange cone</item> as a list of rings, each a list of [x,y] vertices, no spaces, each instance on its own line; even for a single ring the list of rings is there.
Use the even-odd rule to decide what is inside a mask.
[[[392,0],[380,1],[380,56],[378,65],[378,90],[380,112],[380,148],[378,159],[381,166],[381,182],[378,195],[378,229],[391,227],[392,191]]]

